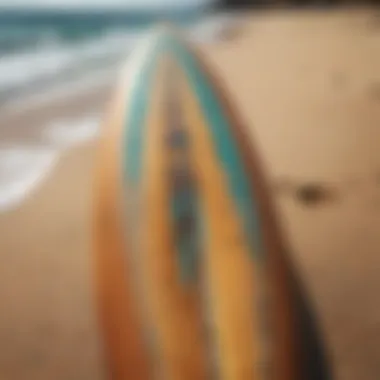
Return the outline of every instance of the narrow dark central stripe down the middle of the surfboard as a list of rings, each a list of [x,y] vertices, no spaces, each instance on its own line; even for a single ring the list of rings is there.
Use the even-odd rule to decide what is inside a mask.
[[[186,130],[176,68],[168,64],[166,72],[165,148],[169,157],[168,181],[171,217],[181,281],[193,281],[197,276],[199,255],[199,226],[197,195],[191,169],[189,135]]]

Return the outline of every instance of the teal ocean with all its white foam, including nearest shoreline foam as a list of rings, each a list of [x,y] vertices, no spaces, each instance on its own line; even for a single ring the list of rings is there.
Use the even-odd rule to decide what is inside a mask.
[[[217,39],[235,22],[230,14],[200,8],[170,13],[0,9],[0,128],[13,127],[2,122],[8,114],[112,81],[141,35],[164,20],[199,41]],[[0,139],[0,211],[20,205],[66,149],[97,137],[99,125],[100,116],[90,114],[52,120],[39,129],[38,144]]]

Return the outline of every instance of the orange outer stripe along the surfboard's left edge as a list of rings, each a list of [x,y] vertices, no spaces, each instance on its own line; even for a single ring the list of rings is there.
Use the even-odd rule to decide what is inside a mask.
[[[110,118],[99,144],[94,204],[94,265],[99,322],[105,344],[108,378],[150,379],[142,326],[128,279],[129,253],[121,220],[120,149],[125,89],[112,103]]]

